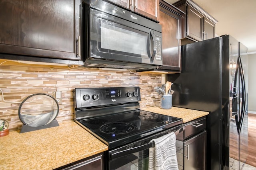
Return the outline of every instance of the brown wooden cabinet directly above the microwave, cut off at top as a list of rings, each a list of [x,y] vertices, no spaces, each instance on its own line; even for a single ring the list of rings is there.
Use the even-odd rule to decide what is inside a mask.
[[[158,20],[159,0],[108,0],[133,12]]]

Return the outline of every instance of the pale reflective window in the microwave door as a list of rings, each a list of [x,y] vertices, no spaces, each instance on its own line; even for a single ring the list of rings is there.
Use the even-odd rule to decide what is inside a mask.
[[[149,34],[108,20],[100,20],[100,48],[149,58]],[[113,52],[114,53],[114,52]]]

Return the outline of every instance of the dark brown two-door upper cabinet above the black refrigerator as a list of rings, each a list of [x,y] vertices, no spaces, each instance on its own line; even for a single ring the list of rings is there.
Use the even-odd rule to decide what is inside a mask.
[[[173,4],[186,13],[182,20],[182,45],[215,37],[218,22],[192,0],[180,0]]]

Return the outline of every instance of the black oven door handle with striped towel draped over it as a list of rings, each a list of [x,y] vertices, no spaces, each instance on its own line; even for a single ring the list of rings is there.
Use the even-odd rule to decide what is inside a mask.
[[[177,131],[175,131],[175,135],[177,136],[179,133],[181,133],[182,131],[184,131],[185,127],[181,127],[180,129],[178,129]],[[115,152],[115,153],[110,153],[110,158],[111,159],[116,159],[116,158],[120,158],[122,156],[126,156],[128,154],[133,154],[135,152],[139,152],[141,150],[145,150],[145,149],[149,149],[151,147],[154,147],[154,142],[148,143],[146,145],[141,145],[139,147],[134,147],[131,149],[127,149],[127,150],[121,150],[119,152]]]

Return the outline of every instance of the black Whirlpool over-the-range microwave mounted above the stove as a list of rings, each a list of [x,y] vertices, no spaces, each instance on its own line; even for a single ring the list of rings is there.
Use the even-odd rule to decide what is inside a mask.
[[[86,67],[150,70],[162,65],[162,26],[104,0],[82,0]]]

